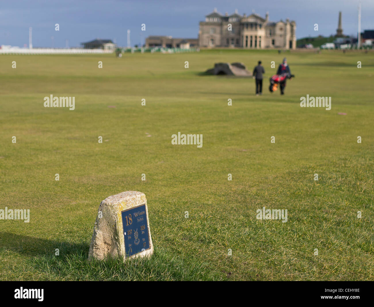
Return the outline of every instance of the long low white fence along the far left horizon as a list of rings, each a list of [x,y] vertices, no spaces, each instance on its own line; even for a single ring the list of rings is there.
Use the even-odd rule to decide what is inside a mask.
[[[83,49],[83,48],[1,48],[0,54],[83,54],[113,53],[114,50]]]

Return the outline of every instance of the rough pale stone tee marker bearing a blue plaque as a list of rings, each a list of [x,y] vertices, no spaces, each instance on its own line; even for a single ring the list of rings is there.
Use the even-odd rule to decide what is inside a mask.
[[[88,259],[122,258],[125,261],[152,253],[145,194],[127,191],[105,198],[93,227]]]

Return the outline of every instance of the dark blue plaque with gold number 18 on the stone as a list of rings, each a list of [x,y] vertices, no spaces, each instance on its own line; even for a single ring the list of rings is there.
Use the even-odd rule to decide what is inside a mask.
[[[121,212],[126,257],[150,249],[145,204]]]

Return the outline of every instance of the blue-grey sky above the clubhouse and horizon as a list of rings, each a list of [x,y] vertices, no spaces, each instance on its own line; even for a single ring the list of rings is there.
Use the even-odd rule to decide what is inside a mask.
[[[28,46],[28,28],[33,27],[34,47],[80,46],[95,39],[116,39],[125,46],[127,29],[131,45],[149,35],[193,38],[198,35],[199,21],[217,7],[218,12],[255,13],[271,21],[290,18],[296,21],[298,38],[334,34],[338,12],[342,11],[343,33],[355,34],[358,26],[358,0],[12,0],[0,1],[0,45]],[[362,0],[361,29],[374,29],[374,1]],[[60,31],[55,31],[58,23]],[[146,31],[141,31],[141,24]],[[319,31],[313,30],[318,23]],[[53,36],[53,40],[51,37]]]

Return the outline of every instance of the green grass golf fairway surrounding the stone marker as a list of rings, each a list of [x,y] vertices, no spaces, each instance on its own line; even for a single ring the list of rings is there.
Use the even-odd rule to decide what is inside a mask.
[[[296,77],[281,96],[268,87],[285,56]],[[258,97],[252,78],[201,74],[258,60]],[[0,280],[374,280],[373,53],[1,55],[0,67],[0,209],[31,215],[0,220]],[[75,110],[45,108],[51,94]],[[307,94],[331,110],[301,108]],[[178,132],[202,148],[172,145]],[[100,202],[127,190],[147,196],[153,256],[89,262]],[[263,207],[288,222],[256,219]]]

